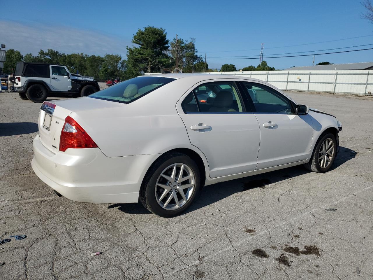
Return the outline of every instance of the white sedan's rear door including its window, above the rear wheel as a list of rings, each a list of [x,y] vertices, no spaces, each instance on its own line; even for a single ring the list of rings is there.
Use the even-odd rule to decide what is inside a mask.
[[[206,156],[211,178],[255,170],[259,124],[235,81],[200,83],[179,103],[191,144]]]

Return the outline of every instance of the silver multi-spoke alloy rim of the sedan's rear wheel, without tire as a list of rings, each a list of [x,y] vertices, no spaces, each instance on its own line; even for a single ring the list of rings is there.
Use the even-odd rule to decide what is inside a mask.
[[[183,207],[191,199],[195,189],[192,169],[182,163],[166,167],[157,179],[155,196],[158,204],[166,210]]]

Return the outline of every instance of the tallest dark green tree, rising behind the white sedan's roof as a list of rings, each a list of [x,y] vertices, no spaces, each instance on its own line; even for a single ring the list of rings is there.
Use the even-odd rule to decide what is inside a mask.
[[[152,69],[162,69],[167,61],[166,50],[169,40],[167,33],[163,28],[147,26],[144,29],[138,29],[132,43],[139,47],[127,46],[127,59],[129,65],[136,71]]]

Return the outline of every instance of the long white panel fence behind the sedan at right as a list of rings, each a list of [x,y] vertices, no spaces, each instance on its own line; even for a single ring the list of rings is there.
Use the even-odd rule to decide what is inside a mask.
[[[281,90],[373,95],[373,70],[210,72],[267,81]]]

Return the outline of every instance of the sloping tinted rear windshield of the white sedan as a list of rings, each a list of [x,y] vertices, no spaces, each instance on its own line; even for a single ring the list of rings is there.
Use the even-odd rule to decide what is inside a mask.
[[[130,103],[150,93],[162,85],[168,84],[175,79],[164,77],[141,76],[119,84],[112,85],[104,90],[97,91],[88,97],[109,100],[121,103]]]

